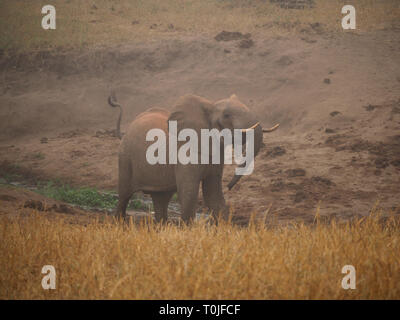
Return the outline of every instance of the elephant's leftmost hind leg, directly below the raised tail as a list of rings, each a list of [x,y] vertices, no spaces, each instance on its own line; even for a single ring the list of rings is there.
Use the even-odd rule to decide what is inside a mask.
[[[129,160],[120,158],[118,164],[118,207],[117,217],[126,219],[126,207],[133,194],[132,189],[132,170]]]

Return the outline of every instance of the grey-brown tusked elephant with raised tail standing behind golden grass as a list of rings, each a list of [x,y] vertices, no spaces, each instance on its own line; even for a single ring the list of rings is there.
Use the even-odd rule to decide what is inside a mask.
[[[224,161],[219,164],[149,164],[146,150],[151,145],[146,140],[146,133],[154,128],[168,134],[168,121],[176,121],[178,130],[191,128],[200,134],[201,129],[243,129],[254,130],[254,156],[263,145],[263,132],[274,131],[262,129],[256,116],[239,101],[236,95],[217,102],[211,102],[196,95],[185,95],[178,99],[170,111],[163,108],[150,108],[140,113],[129,125],[122,136],[120,123],[122,107],[115,95],[110,95],[108,103],[120,108],[116,133],[121,139],[118,154],[118,194],[117,217],[126,219],[126,208],[133,193],[142,191],[150,194],[157,222],[166,222],[168,203],[175,192],[181,206],[182,219],[190,224],[195,217],[200,185],[204,204],[217,218],[220,214],[227,217],[229,211],[222,186]],[[184,142],[179,141],[178,145]],[[168,150],[168,139],[166,140]],[[223,144],[221,143],[221,150]],[[223,158],[223,152],[221,152]],[[211,155],[210,155],[211,156]],[[235,175],[229,184],[231,189],[241,176]]]

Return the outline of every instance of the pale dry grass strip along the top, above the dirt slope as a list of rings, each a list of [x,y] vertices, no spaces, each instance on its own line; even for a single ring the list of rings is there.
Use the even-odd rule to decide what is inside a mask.
[[[0,48],[32,51],[82,48],[222,30],[255,34],[297,32],[319,22],[325,31],[343,32],[342,0],[316,0],[311,10],[285,10],[261,0],[53,0],[57,30],[41,28],[48,1],[0,2]],[[357,1],[357,32],[398,22],[397,0]],[[136,22],[137,23],[136,23]],[[152,25],[157,25],[153,26]]]

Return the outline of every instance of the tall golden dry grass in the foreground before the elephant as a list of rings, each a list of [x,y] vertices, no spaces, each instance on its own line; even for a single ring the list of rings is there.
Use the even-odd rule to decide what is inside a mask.
[[[86,226],[0,219],[1,299],[399,299],[400,224]],[[54,265],[57,289],[43,290]],[[343,290],[344,265],[357,271]]]

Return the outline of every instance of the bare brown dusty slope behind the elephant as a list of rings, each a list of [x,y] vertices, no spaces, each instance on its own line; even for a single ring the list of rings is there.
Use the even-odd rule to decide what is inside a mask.
[[[2,174],[116,189],[111,90],[126,110],[123,129],[183,94],[236,93],[263,126],[281,127],[264,136],[254,173],[226,190],[235,215],[312,221],[319,206],[323,216],[349,218],[376,201],[399,214],[399,30],[333,36],[314,26],[250,38],[180,37],[1,60]],[[226,168],[225,183],[232,172]],[[1,188],[2,206],[20,194]]]

